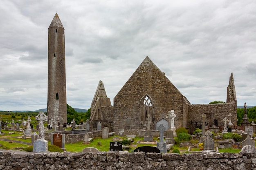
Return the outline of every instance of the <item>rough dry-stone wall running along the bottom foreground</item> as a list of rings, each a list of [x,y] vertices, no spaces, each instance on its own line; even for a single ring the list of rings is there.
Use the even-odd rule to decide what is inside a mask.
[[[0,150],[0,170],[256,170],[255,153],[161,154]]]

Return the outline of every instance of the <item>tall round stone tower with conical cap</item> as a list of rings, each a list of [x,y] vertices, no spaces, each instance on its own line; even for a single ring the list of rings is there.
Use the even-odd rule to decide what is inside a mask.
[[[56,13],[48,28],[48,123],[67,123],[65,34]]]

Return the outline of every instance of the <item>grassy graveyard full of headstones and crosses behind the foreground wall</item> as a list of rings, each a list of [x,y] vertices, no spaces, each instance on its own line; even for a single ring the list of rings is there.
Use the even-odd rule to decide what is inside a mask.
[[[204,117],[204,115],[202,115],[202,117]],[[68,144],[65,143],[65,135],[68,134],[62,133],[63,131],[54,132],[54,129],[48,129],[47,127],[49,127],[49,125],[45,124],[46,119],[47,118],[43,113],[39,113],[35,117],[29,116],[27,119],[20,121],[13,121],[13,119],[10,119],[4,126],[2,126],[3,122],[1,122],[1,147],[5,145],[13,145],[14,147],[11,149],[22,150],[23,148],[34,145],[33,152],[47,152],[48,146],[55,145],[58,146],[58,148],[61,148],[61,150],[68,152],[86,152],[90,149],[91,151],[93,150],[93,152],[96,152],[97,150],[128,150],[129,152],[138,151],[155,153],[171,153],[174,148],[178,148],[181,153],[199,153],[204,151],[241,152],[244,146],[247,146],[247,148],[250,146],[251,150],[252,148],[255,148],[253,126],[246,126],[245,131],[236,130],[236,134],[241,136],[240,141],[230,142],[230,140],[222,139],[223,135],[231,134],[226,132],[225,128],[219,132],[211,132],[205,129],[205,127],[202,127],[202,129],[205,129],[204,134],[202,134],[201,129],[196,129],[194,134],[188,134],[189,140],[184,141],[184,139],[177,137],[177,135],[179,136],[181,133],[180,131],[183,131],[184,128],[175,129],[177,135],[174,136],[173,130],[170,130],[173,128],[170,125],[171,123],[169,124],[168,129],[166,129],[163,124],[160,124],[159,127],[157,127],[158,135],[155,135],[155,132],[149,132],[151,130],[147,127],[144,130],[144,135],[142,134],[140,136],[117,136],[114,135],[113,132],[109,132],[108,127],[100,127],[100,124],[98,124],[97,129],[95,130],[86,129],[86,124],[84,124],[84,126],[71,124],[63,130],[76,133],[72,135],[83,135],[83,139],[79,142]],[[225,121],[225,123],[228,122],[226,119],[223,121]],[[90,134],[91,131],[99,131],[100,135],[92,137],[92,134]],[[171,135],[169,134],[170,132],[172,132]],[[47,134],[50,134],[49,140],[44,139]],[[173,143],[170,144],[170,140],[172,140]]]

